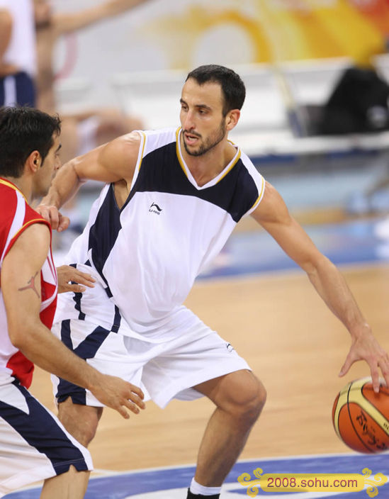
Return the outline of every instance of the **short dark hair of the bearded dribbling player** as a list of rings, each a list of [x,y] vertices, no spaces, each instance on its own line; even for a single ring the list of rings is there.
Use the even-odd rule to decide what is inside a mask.
[[[186,81],[189,78],[195,79],[199,85],[207,82],[220,84],[224,97],[222,110],[224,116],[231,109],[242,108],[244,98],[246,97],[246,87],[239,74],[235,73],[232,69],[215,64],[199,66],[188,73]]]

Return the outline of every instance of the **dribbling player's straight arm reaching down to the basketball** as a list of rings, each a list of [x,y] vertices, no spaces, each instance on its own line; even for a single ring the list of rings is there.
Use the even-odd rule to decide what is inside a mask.
[[[364,359],[370,366],[375,390],[379,389],[378,368],[382,371],[389,386],[388,354],[373,336],[344,277],[337,267],[317,250],[305,230],[290,215],[280,194],[271,184],[266,182],[264,198],[252,213],[252,217],[308,274],[317,293],[349,330],[351,349],[339,376],[344,376],[355,361]]]

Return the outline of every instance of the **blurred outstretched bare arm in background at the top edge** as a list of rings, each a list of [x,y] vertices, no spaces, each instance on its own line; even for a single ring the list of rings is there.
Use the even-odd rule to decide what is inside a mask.
[[[149,0],[109,0],[102,4],[72,13],[56,13],[52,22],[55,26],[56,35],[72,33],[103,19],[118,16],[118,14],[133,9],[140,4],[145,4]]]

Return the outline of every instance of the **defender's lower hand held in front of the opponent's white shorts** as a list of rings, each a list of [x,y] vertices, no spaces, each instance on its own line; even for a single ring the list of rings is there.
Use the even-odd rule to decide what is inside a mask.
[[[142,390],[117,376],[101,374],[99,383],[91,388],[91,392],[101,403],[117,410],[127,420],[130,417],[127,409],[134,414],[139,414],[140,409],[146,408],[143,402],[145,395]]]

